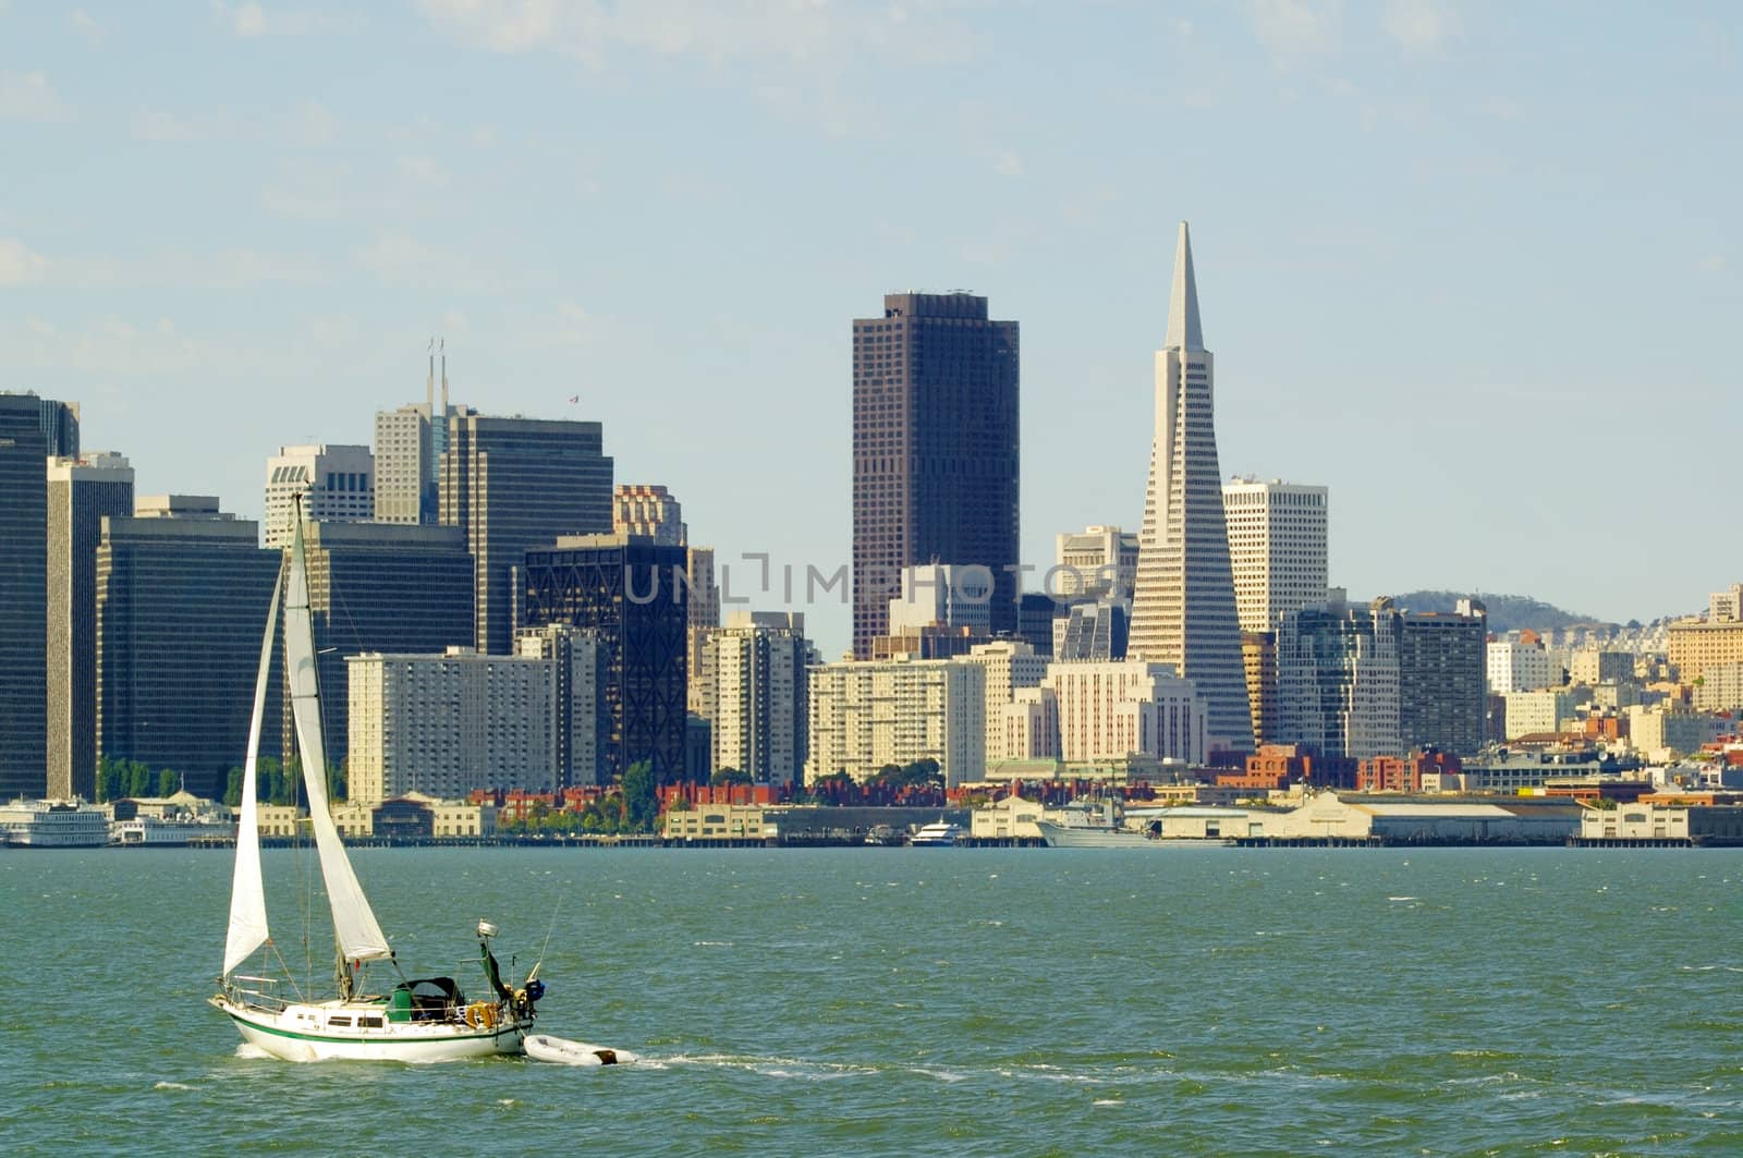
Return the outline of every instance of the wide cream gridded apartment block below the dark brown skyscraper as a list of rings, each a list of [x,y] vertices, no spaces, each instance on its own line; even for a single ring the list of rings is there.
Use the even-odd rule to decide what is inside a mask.
[[[987,771],[987,677],[955,659],[878,659],[810,668],[805,783],[885,764],[938,760],[948,787]]]

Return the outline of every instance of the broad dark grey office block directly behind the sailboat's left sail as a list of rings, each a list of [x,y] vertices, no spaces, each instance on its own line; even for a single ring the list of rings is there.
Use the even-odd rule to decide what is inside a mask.
[[[260,525],[204,495],[146,495],[103,520],[98,542],[98,757],[181,773],[223,795],[248,755],[248,720],[281,551]],[[267,703],[281,703],[274,664]],[[261,755],[279,755],[265,729]]]

